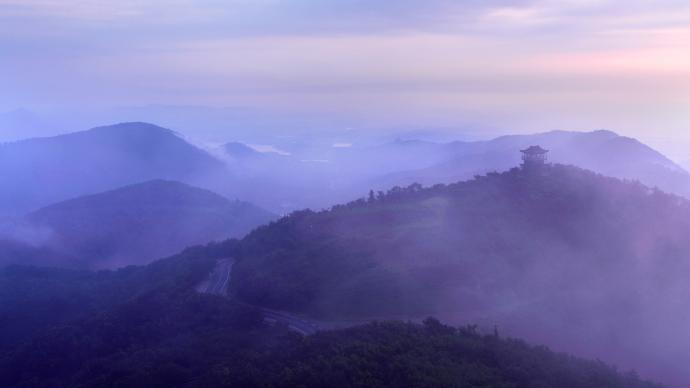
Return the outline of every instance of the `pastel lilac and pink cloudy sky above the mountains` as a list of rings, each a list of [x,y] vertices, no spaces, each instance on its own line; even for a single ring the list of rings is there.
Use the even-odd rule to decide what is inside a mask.
[[[0,112],[147,105],[606,128],[690,160],[690,2],[0,0]]]

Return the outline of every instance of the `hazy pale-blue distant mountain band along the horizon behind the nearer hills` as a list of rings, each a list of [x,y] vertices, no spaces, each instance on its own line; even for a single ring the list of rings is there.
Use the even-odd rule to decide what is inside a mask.
[[[609,131],[480,142],[399,140],[277,153],[241,142],[205,150],[171,130],[135,122],[0,145],[0,217],[151,179],[189,183],[285,214],[329,207],[370,189],[449,183],[506,170],[520,163],[520,149],[533,144],[549,149],[554,162],[690,196],[690,174],[648,146]]]

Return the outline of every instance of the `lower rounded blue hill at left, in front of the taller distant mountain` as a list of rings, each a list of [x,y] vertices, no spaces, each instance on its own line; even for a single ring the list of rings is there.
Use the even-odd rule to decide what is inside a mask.
[[[247,202],[153,180],[50,205],[26,221],[49,231],[51,249],[102,268],[145,264],[187,246],[242,237],[273,218]]]

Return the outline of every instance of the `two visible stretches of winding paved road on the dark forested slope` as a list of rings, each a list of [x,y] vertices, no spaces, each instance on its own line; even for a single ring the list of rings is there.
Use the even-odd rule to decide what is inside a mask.
[[[233,264],[234,261],[231,258],[218,260],[216,267],[211,271],[209,277],[196,287],[197,291],[206,294],[227,296]],[[319,331],[319,325],[315,321],[303,319],[283,311],[265,309],[262,307],[258,308],[263,312],[266,322],[286,325],[290,330],[302,335],[310,335]]]

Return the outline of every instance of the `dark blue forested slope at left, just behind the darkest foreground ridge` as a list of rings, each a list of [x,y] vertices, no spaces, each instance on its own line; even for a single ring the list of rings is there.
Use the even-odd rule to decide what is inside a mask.
[[[213,267],[214,247],[188,249],[145,267],[117,271],[18,265],[0,269],[0,349],[154,291],[189,290]]]

